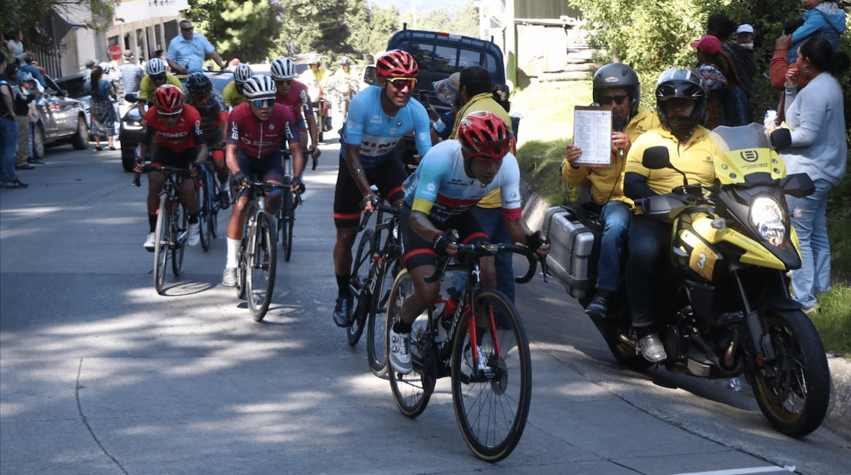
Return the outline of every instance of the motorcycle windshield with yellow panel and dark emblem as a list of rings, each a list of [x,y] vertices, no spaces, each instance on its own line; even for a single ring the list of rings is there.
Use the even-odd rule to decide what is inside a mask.
[[[722,185],[744,183],[749,181],[748,175],[757,173],[771,180],[786,175],[785,163],[771,149],[771,140],[761,124],[719,126],[710,135],[721,150],[715,159],[715,175]]]

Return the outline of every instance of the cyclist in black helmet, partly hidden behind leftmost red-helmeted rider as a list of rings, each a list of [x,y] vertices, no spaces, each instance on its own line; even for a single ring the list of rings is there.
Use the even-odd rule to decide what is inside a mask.
[[[213,152],[213,168],[221,184],[219,200],[222,209],[231,201],[227,196],[227,166],[225,164],[225,127],[227,108],[221,93],[213,88],[213,82],[203,72],[193,72],[186,79],[186,104],[201,114],[201,129],[204,143]]]

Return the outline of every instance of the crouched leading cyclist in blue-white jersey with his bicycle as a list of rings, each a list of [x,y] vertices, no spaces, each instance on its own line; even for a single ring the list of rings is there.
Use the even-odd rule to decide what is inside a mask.
[[[405,270],[397,275],[387,310],[390,380],[399,409],[410,417],[419,415],[434,380],[451,375],[465,442],[488,461],[501,460],[517,445],[531,396],[528,341],[511,300],[494,289],[494,255],[527,255],[528,280],[534,276],[534,259],[544,258],[550,249],[521,215],[520,169],[512,146],[513,135],[503,120],[478,111],[460,119],[458,140],[443,141],[426,153],[405,183]],[[525,247],[489,243],[471,215],[471,208],[496,188],[511,240]],[[427,311],[437,302],[438,278],[448,256],[460,261],[454,268],[463,269],[467,278],[460,300],[443,307],[444,326]],[[420,318],[424,312],[426,318]],[[431,345],[437,341],[442,345]],[[439,347],[443,352],[435,349]]]

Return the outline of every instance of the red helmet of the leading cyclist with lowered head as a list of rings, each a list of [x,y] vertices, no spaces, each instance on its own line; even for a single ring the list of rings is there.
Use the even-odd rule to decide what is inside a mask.
[[[467,154],[485,160],[499,160],[511,151],[513,135],[493,112],[471,112],[458,129],[458,140]]]

